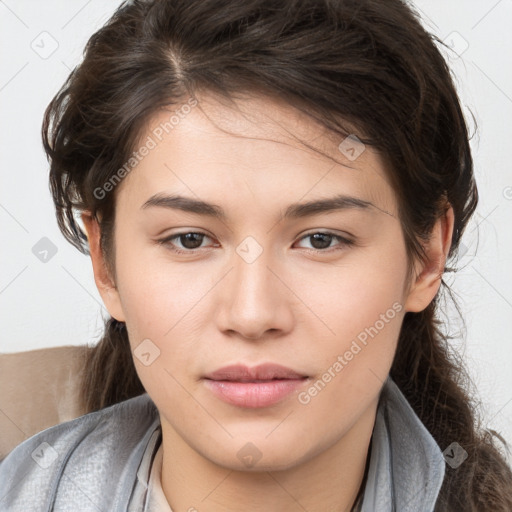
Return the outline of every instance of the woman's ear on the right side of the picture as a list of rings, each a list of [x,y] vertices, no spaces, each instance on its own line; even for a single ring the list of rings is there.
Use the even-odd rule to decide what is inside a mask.
[[[451,205],[437,219],[429,241],[424,244],[427,260],[415,267],[415,279],[405,300],[405,311],[423,311],[436,296],[441,286],[446,258],[453,234],[454,214]]]

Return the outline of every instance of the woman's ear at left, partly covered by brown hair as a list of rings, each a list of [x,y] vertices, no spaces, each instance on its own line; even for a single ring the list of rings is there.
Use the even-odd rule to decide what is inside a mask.
[[[81,218],[85,226],[87,240],[89,241],[94,281],[96,282],[98,291],[110,315],[119,322],[124,322],[125,317],[119,292],[113,278],[108,272],[105,257],[100,247],[101,232],[98,221],[96,218],[93,218],[89,212],[84,212]]]

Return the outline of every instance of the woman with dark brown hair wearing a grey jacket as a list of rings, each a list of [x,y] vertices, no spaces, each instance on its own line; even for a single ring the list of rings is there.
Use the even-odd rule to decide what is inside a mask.
[[[399,0],[134,1],[92,36],[43,141],[111,318],[2,510],[511,510],[436,316],[478,195],[434,40]]]

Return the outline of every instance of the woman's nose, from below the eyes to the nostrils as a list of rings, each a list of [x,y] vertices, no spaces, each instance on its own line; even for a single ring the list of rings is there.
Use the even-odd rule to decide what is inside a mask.
[[[293,328],[293,294],[283,284],[285,276],[264,251],[248,262],[238,254],[233,267],[216,287],[217,324],[225,334],[250,340],[282,336]]]

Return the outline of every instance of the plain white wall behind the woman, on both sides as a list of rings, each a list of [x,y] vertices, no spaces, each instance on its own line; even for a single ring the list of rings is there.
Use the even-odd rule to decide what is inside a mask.
[[[0,0],[0,352],[92,344],[102,333],[107,312],[90,260],[57,227],[40,130],[45,107],[119,3]],[[483,426],[512,442],[512,2],[414,5],[427,29],[460,53],[449,62],[470,133],[469,110],[478,125],[471,144],[480,204],[461,270],[445,277],[467,331],[451,310],[448,329],[478,388]],[[58,44],[47,58],[32,48],[41,38],[47,50]],[[32,253],[42,237],[57,247],[47,263]]]

